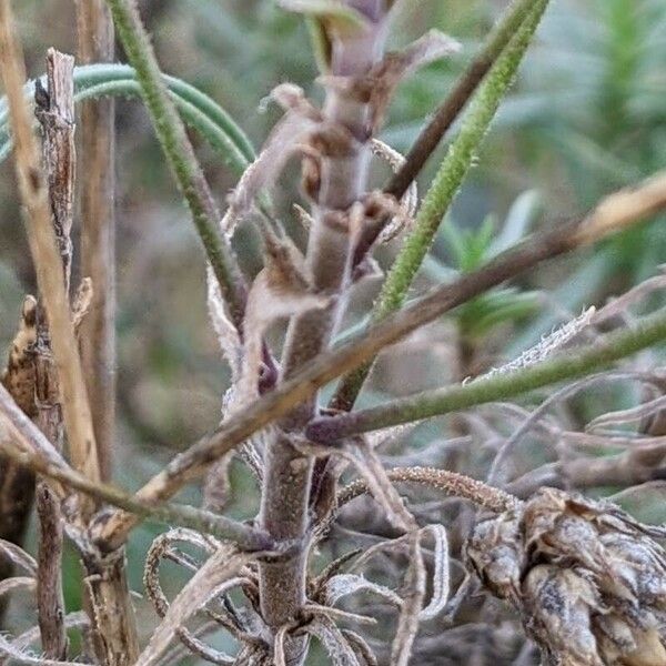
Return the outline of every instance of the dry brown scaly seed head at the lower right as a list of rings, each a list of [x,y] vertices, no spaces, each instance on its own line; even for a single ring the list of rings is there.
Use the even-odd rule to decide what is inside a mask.
[[[666,664],[666,552],[607,502],[544,488],[480,522],[468,564],[518,610],[545,664]]]

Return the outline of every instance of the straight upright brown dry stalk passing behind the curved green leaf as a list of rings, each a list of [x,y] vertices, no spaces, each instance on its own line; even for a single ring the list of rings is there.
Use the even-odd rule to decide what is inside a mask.
[[[77,0],[78,60],[113,62],[113,21],[104,0]],[[90,396],[101,477],[111,478],[115,415],[115,130],[112,99],[84,102],[79,160],[81,273],[92,280],[81,357]]]

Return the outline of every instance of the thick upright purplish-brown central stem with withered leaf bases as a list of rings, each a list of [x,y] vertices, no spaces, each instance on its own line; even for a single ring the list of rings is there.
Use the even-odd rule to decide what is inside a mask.
[[[333,75],[365,74],[382,54],[384,29],[373,26],[367,32],[337,39],[333,48]],[[289,381],[303,364],[325,350],[334,334],[343,310],[343,292],[351,276],[350,233],[343,213],[366,190],[370,107],[350,92],[330,90],[324,115],[342,125],[356,139],[357,145],[345,154],[324,154],[321,160],[321,184],[314,208],[306,264],[314,290],[334,296],[332,305],[293,317],[290,322],[283,357],[284,379]],[[297,452],[289,432],[302,428],[314,415],[316,393],[309,395],[297,410],[282,422],[282,430],[270,443],[265,482],[262,488],[261,526],[276,539],[303,538],[307,528],[313,460]],[[293,620],[305,602],[306,548],[293,558],[278,564],[260,565],[260,594],[264,620],[273,628]],[[299,645],[287,647],[297,662]]]

